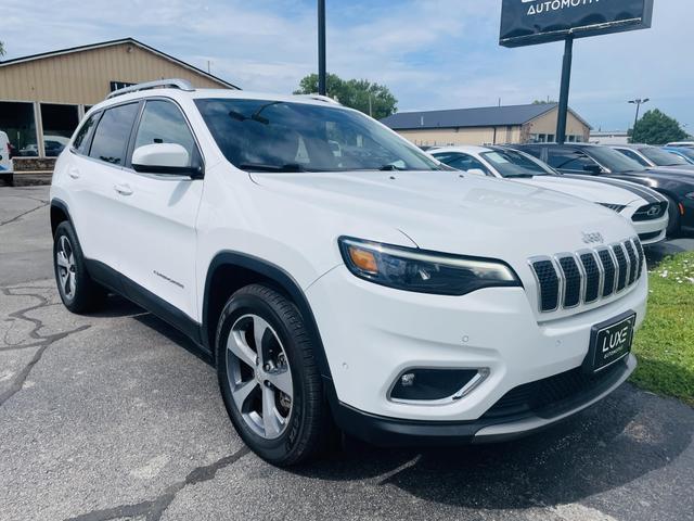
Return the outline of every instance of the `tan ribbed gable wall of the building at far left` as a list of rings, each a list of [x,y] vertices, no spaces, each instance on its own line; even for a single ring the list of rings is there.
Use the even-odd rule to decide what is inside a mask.
[[[111,81],[188,79],[195,87],[223,87],[133,43],[103,47],[0,67],[0,100],[93,105]]]

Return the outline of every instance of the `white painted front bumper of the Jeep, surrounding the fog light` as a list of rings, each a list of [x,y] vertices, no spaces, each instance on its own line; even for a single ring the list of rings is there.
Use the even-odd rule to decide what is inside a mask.
[[[561,316],[539,314],[535,292],[490,288],[440,296],[384,288],[338,266],[306,290],[325,348],[334,404],[397,421],[479,420],[514,387],[578,368],[591,328],[626,312],[645,316],[645,276],[619,298]],[[389,399],[412,368],[480,368],[488,377],[462,399]]]

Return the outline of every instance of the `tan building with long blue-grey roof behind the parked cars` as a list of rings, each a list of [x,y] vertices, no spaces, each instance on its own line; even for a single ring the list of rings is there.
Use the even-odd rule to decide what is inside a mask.
[[[399,112],[381,120],[420,147],[502,144],[555,140],[558,105],[485,106],[447,111]],[[569,109],[566,140],[588,141],[591,126]]]

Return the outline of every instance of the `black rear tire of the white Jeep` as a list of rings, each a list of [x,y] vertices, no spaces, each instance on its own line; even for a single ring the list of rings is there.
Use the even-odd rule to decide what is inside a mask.
[[[59,264],[59,252],[65,247],[65,244],[69,246],[72,253],[68,267]],[[57,225],[53,236],[53,271],[61,300],[72,313],[92,312],[103,303],[106,291],[87,272],[77,233],[67,220]]]

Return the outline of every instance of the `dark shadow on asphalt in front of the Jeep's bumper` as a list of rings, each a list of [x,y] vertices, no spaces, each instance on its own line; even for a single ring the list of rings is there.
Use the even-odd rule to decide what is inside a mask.
[[[382,475],[380,484],[427,501],[523,509],[576,503],[638,480],[685,450],[693,431],[694,410],[626,384],[519,441],[419,452],[364,447],[292,471],[329,481]]]

